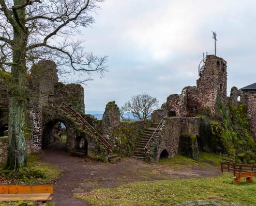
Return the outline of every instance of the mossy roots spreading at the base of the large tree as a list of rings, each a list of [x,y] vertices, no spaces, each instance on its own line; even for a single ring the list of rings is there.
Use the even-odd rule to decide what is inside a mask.
[[[30,166],[26,165],[16,170],[10,169],[10,167],[4,167],[0,169],[0,175],[10,179],[10,178],[17,178],[17,179],[28,179],[28,178],[45,178],[46,176],[41,170],[36,170],[31,168]]]

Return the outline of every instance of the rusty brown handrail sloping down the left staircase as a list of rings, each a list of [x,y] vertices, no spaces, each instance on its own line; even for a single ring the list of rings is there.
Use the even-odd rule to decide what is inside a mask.
[[[111,151],[111,145],[109,142],[103,138],[76,110],[71,108],[69,105],[67,105],[65,102],[62,102],[62,104],[59,106],[59,108],[65,110],[66,112],[70,113],[74,116],[74,118],[77,119],[90,133],[97,136],[100,143],[107,148],[108,151]]]

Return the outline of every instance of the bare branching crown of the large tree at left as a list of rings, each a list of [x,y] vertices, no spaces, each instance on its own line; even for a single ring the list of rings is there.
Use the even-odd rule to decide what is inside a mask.
[[[29,68],[47,59],[62,66],[61,74],[77,71],[88,77],[96,71],[102,75],[107,57],[86,53],[81,40],[72,40],[82,27],[94,23],[91,14],[102,1],[0,0],[0,70],[10,71],[11,66],[23,61]],[[16,61],[13,55],[19,49],[23,49],[24,57]]]

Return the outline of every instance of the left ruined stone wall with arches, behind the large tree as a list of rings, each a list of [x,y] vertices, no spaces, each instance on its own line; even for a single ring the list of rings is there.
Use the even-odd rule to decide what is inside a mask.
[[[58,82],[57,68],[53,61],[39,61],[33,65],[27,74],[28,118],[26,120],[27,147],[29,152],[37,152],[42,147],[48,147],[59,139],[59,125],[64,123],[67,128],[67,150],[76,150],[78,139],[85,138],[88,142],[88,153],[99,155],[104,153],[99,143],[81,130],[73,119],[63,110],[58,109],[62,102],[84,115],[84,89],[79,84],[64,84]],[[0,127],[8,124],[8,93],[7,85],[0,80]],[[114,115],[108,114],[111,122],[115,122]],[[88,117],[89,118],[89,117]],[[56,126],[57,125],[57,126]],[[116,121],[113,128],[118,125]],[[31,132],[31,136],[29,136]],[[44,144],[44,145],[43,145]],[[87,146],[87,145],[86,145]],[[7,154],[7,139],[0,140],[0,162]]]

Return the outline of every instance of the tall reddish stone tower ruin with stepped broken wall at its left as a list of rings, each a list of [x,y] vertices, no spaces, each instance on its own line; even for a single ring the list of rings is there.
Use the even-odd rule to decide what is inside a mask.
[[[209,108],[215,113],[218,94],[227,101],[227,62],[214,55],[206,57],[204,71],[197,80],[197,87],[186,87],[182,94],[172,94],[165,104],[165,115],[192,117],[199,109]]]

